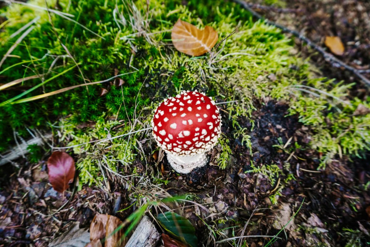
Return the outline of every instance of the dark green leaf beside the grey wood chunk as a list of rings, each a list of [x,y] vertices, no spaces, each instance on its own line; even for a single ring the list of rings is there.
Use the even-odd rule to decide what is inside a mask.
[[[178,240],[196,247],[198,238],[195,236],[195,228],[190,221],[173,212],[165,212],[158,214],[157,220],[168,233]]]

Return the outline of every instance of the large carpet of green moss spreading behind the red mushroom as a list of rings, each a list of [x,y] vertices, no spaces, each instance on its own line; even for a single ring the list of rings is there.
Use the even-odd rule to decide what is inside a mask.
[[[48,3],[56,7],[54,2]],[[1,67],[5,69],[24,62],[1,74],[6,82],[46,73],[41,79],[22,83],[24,87],[32,87],[75,66],[75,62],[80,63],[79,69],[76,67],[68,71],[24,97],[83,84],[83,77],[85,82],[105,80],[114,75],[115,69],[118,73],[132,73],[122,77],[125,83],[121,87],[110,83],[80,87],[41,100],[1,107],[0,137],[5,141],[0,144],[0,150],[11,143],[12,129],[27,136],[25,125],[47,128],[48,122],[66,116],[72,127],[64,129],[64,134],[73,139],[71,143],[104,138],[107,133],[102,131],[101,126],[117,124],[108,121],[111,116],[129,123],[145,109],[147,115],[143,121],[148,123],[151,110],[164,97],[194,89],[204,91],[217,101],[237,101],[226,107],[232,122],[231,131],[233,137],[242,139],[250,150],[253,149],[248,135],[250,130],[241,127],[239,121],[248,118],[253,123],[252,112],[259,105],[256,102],[265,99],[287,102],[290,114],[298,114],[300,121],[310,126],[311,147],[323,153],[323,165],[336,154],[361,156],[363,150],[369,149],[370,116],[354,114],[359,104],[369,108],[369,100],[364,102],[349,97],[348,90],[353,85],[316,78],[314,67],[295,54],[292,40],[279,29],[262,21],[253,22],[248,11],[230,1],[199,3],[190,0],[186,6],[179,0],[150,1],[149,14],[145,4],[135,3],[125,1],[116,6],[111,1],[103,0],[58,1],[58,9],[73,14],[71,19],[85,28],[54,13],[50,14],[50,23],[45,12],[23,5],[1,10],[1,15],[11,20],[0,34],[4,40],[0,47],[1,54],[5,54],[18,37],[10,39],[10,35],[41,13],[35,29]],[[236,32],[210,53],[189,57],[170,45],[169,30],[179,18],[198,27],[212,26],[218,31],[219,41],[234,30]],[[74,60],[67,57],[68,53]],[[25,62],[29,60],[33,61]],[[54,66],[48,73],[52,64]],[[108,89],[108,93],[100,97],[102,87]],[[0,101],[19,93],[17,89],[1,91]],[[103,112],[105,117],[101,117]],[[86,121],[99,122],[100,125],[95,127],[98,132],[94,133],[94,128],[89,128],[85,130],[88,133],[81,133],[77,126]],[[121,130],[132,129],[125,126],[119,131],[112,131],[112,136],[123,133]],[[129,147],[129,150],[135,146],[124,138],[116,141],[115,144]],[[90,170],[91,176],[81,172],[81,180],[100,183],[103,178],[100,177],[98,162],[102,161],[102,157],[95,154],[98,146],[85,148],[92,155],[89,158],[79,148],[74,150],[81,153],[79,168],[87,170],[85,167],[89,167],[93,174]],[[112,157],[117,158],[119,154],[115,152],[118,149],[113,147],[108,151],[112,151]],[[133,157],[126,158],[128,163],[132,162]],[[123,162],[126,158],[119,159]],[[117,167],[114,164],[107,166],[112,170]]]

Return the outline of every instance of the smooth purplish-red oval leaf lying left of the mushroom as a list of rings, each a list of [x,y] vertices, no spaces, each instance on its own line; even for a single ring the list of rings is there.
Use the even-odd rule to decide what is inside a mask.
[[[64,152],[54,152],[47,161],[49,181],[54,190],[62,193],[73,181],[75,167],[73,158]]]

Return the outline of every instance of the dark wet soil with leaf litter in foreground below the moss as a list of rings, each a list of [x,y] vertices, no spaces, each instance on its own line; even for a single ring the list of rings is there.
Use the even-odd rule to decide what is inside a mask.
[[[171,171],[166,158],[157,164],[152,156],[148,156],[151,169],[155,171],[157,164],[163,179],[169,180],[162,188],[173,195],[192,194],[196,196],[193,200],[208,210],[190,207],[182,212],[191,219],[198,239],[205,246],[213,245],[206,224],[217,229],[228,228],[225,230],[228,236],[232,234],[229,227],[239,226],[234,234],[240,236],[242,227],[256,208],[258,211],[250,218],[244,234],[277,234],[279,229],[274,227],[274,222],[280,205],[284,203],[294,212],[301,204],[302,207],[294,218],[295,231],[286,230],[287,238],[285,234],[280,234],[282,239],[273,246],[313,246],[323,242],[330,246],[344,246],[352,238],[358,238],[361,246],[366,246],[366,242],[370,241],[366,234],[370,229],[366,213],[370,193],[365,189],[370,181],[370,153],[367,159],[337,157],[337,161],[328,165],[326,170],[317,172],[319,161],[310,157],[318,157],[318,154],[307,145],[309,130],[298,122],[297,116],[287,116],[287,109],[282,102],[261,104],[260,109],[253,112],[255,127],[248,133],[252,154],[240,145],[240,140],[230,139],[233,153],[225,170],[207,165],[194,170],[190,176],[178,176]],[[245,119],[240,119],[240,123],[242,127],[251,127]],[[225,120],[223,133],[230,138],[232,131],[232,124]],[[288,140],[291,144],[284,150],[274,146],[285,145]],[[295,148],[294,143],[299,144],[303,151]],[[154,147],[145,148],[150,154]],[[220,151],[218,148],[209,152],[210,160],[215,160],[213,157]],[[293,152],[294,155],[291,155]],[[272,176],[274,183],[268,173],[248,172],[253,169],[252,165],[261,168],[263,164],[276,164],[282,170],[282,173]],[[135,166],[139,172],[145,170],[142,164]],[[110,185],[113,193],[87,186],[77,191],[77,187],[71,185],[63,199],[47,183],[45,164],[26,167],[10,174],[8,183],[2,182],[0,246],[47,246],[51,237],[67,230],[73,221],[87,227],[95,213],[114,213],[114,208],[122,209],[131,204],[127,191],[117,184]],[[42,167],[41,171],[39,167]],[[302,168],[305,170],[300,170]],[[285,181],[292,175],[294,179]],[[275,194],[277,190],[280,190],[279,194]],[[276,205],[270,200],[273,195]],[[117,207],[120,196],[121,202]],[[68,200],[68,206],[63,206]],[[124,211],[118,217],[125,219],[132,210]],[[205,218],[204,222],[198,215]],[[313,215],[318,219],[316,223],[312,223]],[[315,224],[321,226],[320,231],[314,230],[317,228]],[[364,230],[357,232],[361,228]],[[343,229],[352,229],[356,233]],[[266,238],[247,239],[249,246],[263,246],[267,242]],[[228,243],[218,245],[229,246]]]

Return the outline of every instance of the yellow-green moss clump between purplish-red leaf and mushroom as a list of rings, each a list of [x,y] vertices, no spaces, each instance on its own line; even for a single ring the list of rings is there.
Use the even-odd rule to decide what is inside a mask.
[[[123,126],[122,126],[123,125]],[[73,151],[78,154],[76,163],[80,171],[80,181],[83,184],[102,184],[108,173],[121,173],[130,169],[135,159],[134,144],[136,136],[114,139],[101,143],[92,140],[104,140],[111,137],[111,131],[119,126],[115,135],[130,132],[131,126],[122,121],[106,120],[105,114],[98,117],[94,126],[79,127],[71,119],[61,122],[63,137],[61,140],[71,140],[67,146],[74,146]],[[80,145],[83,144],[83,145]],[[105,174],[105,175],[104,175]]]

